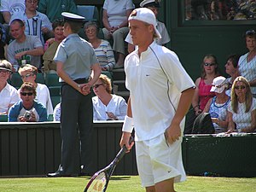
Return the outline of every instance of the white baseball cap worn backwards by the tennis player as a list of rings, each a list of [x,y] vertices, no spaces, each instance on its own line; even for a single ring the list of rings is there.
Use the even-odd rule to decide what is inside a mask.
[[[160,32],[157,30],[157,22],[155,15],[152,10],[148,8],[138,8],[134,9],[131,12],[131,15],[129,16],[128,20],[141,20],[143,22],[146,22],[150,25],[154,26],[154,32],[158,38],[162,38],[160,35]]]

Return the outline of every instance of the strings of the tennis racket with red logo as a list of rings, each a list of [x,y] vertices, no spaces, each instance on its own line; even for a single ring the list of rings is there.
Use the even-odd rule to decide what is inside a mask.
[[[105,172],[100,172],[90,183],[87,192],[102,192],[107,185],[107,176]]]

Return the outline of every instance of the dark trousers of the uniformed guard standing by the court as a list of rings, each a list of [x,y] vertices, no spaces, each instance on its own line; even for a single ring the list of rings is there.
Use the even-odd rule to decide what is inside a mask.
[[[93,131],[91,94],[84,96],[68,84],[61,86],[61,167],[65,174],[90,172]]]

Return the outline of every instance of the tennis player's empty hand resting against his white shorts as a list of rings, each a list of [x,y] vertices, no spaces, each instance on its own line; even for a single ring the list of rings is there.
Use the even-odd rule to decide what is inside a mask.
[[[170,144],[179,140],[181,137],[181,129],[179,124],[172,124],[170,125],[165,131],[166,141]]]

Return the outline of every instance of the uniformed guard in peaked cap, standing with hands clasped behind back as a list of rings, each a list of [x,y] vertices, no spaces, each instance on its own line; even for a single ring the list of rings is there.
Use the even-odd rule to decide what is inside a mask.
[[[90,87],[101,74],[91,45],[79,38],[84,17],[63,12],[64,36],[54,61],[61,78],[61,165],[48,177],[91,172],[92,102]]]

